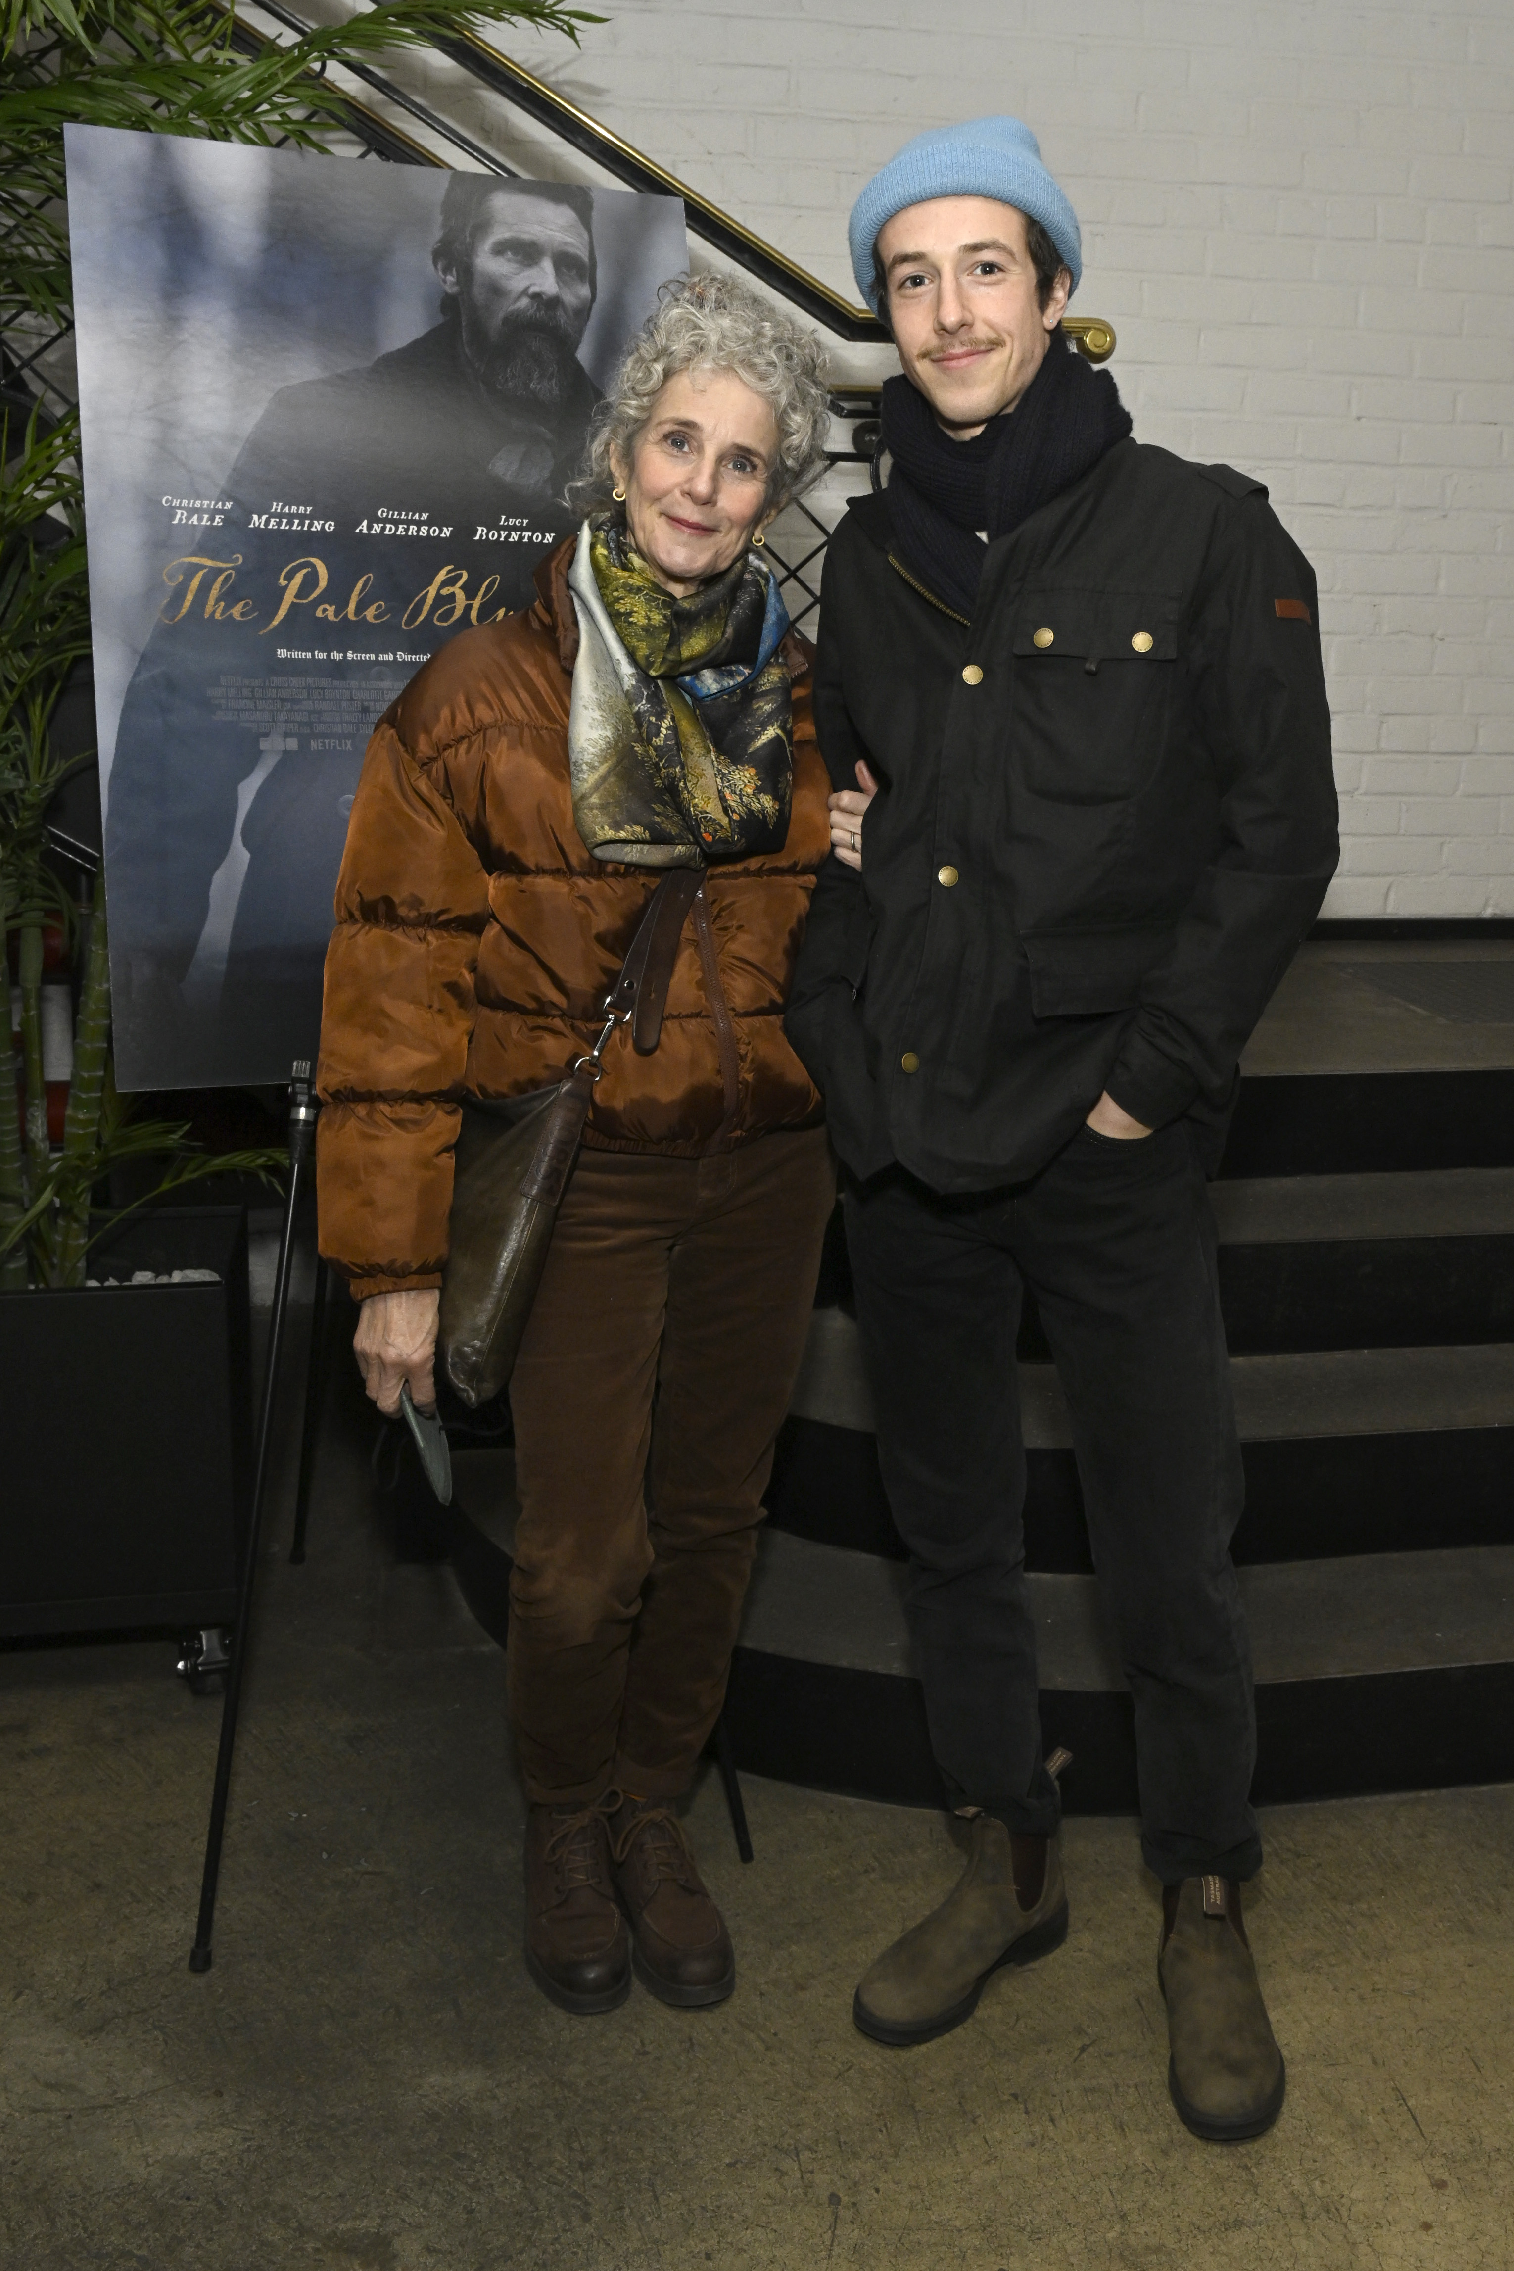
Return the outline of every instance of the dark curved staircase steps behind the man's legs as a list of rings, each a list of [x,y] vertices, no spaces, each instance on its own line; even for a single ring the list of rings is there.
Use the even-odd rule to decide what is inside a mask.
[[[1514,938],[1351,929],[1258,1029],[1212,1192],[1262,1803],[1514,1778]],[[1046,1744],[1076,1755],[1069,1810],[1135,1810],[1033,1313],[1021,1403]],[[872,1426],[833,1240],[729,1724],[758,1774],[940,1803]]]

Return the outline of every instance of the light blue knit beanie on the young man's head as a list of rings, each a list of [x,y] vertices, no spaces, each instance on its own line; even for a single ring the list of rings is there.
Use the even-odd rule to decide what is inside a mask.
[[[1071,288],[1083,275],[1078,216],[1042,166],[1042,145],[1021,118],[969,118],[960,127],[931,127],[899,150],[851,207],[847,238],[851,273],[867,307],[878,313],[872,248],[878,232],[906,204],[926,198],[999,198],[1040,220],[1071,268]]]

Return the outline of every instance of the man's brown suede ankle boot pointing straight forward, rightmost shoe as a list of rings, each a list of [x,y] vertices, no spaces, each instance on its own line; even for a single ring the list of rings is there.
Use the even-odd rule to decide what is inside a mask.
[[[1162,1889],[1158,1980],[1178,2117],[1212,2144],[1260,2137],[1282,2112],[1287,2069],[1258,1985],[1239,1885],[1189,1876]]]

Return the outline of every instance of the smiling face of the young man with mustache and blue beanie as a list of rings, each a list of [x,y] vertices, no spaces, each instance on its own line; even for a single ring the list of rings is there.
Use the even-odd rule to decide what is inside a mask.
[[[1026,216],[996,198],[906,204],[878,234],[888,320],[906,377],[949,434],[1012,411],[1067,307],[1067,270],[1042,309]]]

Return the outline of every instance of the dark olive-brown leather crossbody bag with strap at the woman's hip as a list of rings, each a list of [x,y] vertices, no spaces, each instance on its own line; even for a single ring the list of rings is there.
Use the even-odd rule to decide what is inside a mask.
[[[438,1351],[470,1408],[497,1397],[515,1367],[611,1033],[629,1022],[640,1056],[663,1036],[683,920],[701,883],[704,868],[667,870],[604,997],[604,1031],[563,1081],[524,1097],[463,1101]]]

